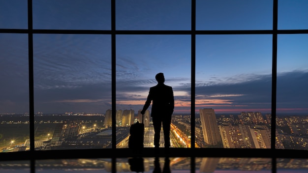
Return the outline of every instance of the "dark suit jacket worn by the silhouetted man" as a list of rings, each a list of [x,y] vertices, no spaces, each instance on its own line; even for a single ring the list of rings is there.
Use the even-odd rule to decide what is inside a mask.
[[[153,101],[151,116],[172,115],[174,109],[172,87],[165,84],[157,84],[151,87],[143,111],[149,108],[151,101]]]

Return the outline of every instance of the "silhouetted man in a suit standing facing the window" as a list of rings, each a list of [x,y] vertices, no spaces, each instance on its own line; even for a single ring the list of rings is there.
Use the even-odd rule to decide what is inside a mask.
[[[144,115],[145,111],[149,108],[151,101],[153,101],[151,116],[154,126],[155,148],[159,147],[161,123],[164,132],[165,148],[169,148],[171,115],[174,109],[173,90],[172,87],[164,84],[165,77],[163,73],[156,74],[155,79],[158,84],[150,88],[148,99],[141,114]]]

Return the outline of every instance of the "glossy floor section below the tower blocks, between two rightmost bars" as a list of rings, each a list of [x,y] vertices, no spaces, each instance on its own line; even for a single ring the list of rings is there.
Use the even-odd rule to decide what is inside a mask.
[[[272,173],[271,158],[196,158],[196,173]]]

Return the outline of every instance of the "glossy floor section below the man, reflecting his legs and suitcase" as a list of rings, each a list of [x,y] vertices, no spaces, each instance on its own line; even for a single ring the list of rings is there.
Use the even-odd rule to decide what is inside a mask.
[[[117,158],[117,173],[191,173],[189,157]]]

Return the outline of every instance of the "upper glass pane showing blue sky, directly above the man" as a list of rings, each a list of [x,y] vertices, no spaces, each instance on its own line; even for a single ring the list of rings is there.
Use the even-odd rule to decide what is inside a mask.
[[[190,0],[116,0],[120,30],[191,29]]]

